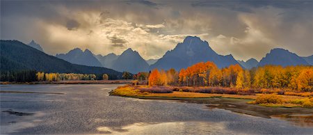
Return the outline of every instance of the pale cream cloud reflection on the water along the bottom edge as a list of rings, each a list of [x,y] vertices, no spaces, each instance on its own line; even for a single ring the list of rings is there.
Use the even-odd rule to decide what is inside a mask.
[[[239,134],[225,129],[225,122],[137,122],[124,127],[98,127],[101,134]]]

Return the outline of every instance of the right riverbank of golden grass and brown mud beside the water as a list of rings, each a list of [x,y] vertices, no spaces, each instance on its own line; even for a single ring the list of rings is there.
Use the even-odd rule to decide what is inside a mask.
[[[271,118],[289,113],[313,114],[312,107],[303,107],[303,102],[310,97],[278,95],[284,100],[277,104],[255,104],[258,97],[269,94],[232,95],[217,93],[193,93],[172,91],[171,93],[147,93],[136,89],[136,86],[121,86],[112,90],[110,95],[133,97],[145,100],[176,100],[178,102],[207,104],[208,108],[226,109],[236,113]],[[288,102],[287,102],[288,101]]]

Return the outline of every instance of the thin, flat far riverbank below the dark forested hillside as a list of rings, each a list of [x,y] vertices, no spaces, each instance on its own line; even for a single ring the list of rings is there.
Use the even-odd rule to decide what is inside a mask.
[[[77,81],[33,81],[33,82],[8,82],[1,81],[0,84],[131,84],[132,79],[119,80],[77,80]]]

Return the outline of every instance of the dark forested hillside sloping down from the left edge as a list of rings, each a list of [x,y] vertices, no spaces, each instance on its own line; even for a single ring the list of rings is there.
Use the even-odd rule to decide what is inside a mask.
[[[111,79],[120,79],[122,72],[105,67],[90,67],[72,64],[17,40],[0,40],[1,72],[9,70],[37,70],[40,72],[109,74]]]

